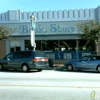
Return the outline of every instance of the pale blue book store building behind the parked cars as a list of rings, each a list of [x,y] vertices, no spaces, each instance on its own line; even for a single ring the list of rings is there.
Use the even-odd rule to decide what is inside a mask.
[[[30,43],[30,16],[37,18],[36,50],[44,51],[52,59],[76,59],[95,51],[89,44],[85,49],[77,24],[100,20],[100,6],[92,9],[22,12],[9,10],[0,13],[0,25],[14,29],[12,38],[0,42],[0,58],[12,51],[33,50]],[[2,48],[1,48],[2,45]]]

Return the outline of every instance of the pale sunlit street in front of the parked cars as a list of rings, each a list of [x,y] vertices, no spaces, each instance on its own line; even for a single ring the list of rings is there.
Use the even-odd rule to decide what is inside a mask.
[[[92,100],[93,91],[100,94],[97,72],[0,72],[0,100]]]

